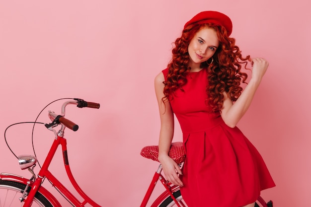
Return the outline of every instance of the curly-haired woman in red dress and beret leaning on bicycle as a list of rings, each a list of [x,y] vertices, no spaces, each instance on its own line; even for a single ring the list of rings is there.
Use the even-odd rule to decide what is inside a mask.
[[[204,207],[206,201],[211,207],[254,207],[260,191],[275,186],[262,157],[236,127],[269,64],[263,58],[243,58],[231,33],[227,15],[198,13],[185,24],[171,62],[155,79],[158,160],[189,207]],[[242,92],[240,82],[247,74],[240,69],[247,61],[252,76]],[[183,132],[182,170],[168,156],[173,114]]]

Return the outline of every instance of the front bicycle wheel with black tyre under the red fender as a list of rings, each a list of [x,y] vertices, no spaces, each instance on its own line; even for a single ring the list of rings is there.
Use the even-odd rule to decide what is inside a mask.
[[[26,185],[15,181],[0,179],[0,207],[22,207],[24,202],[20,202],[19,198],[22,196]],[[27,192],[30,191],[28,187]],[[41,193],[37,192],[31,207],[53,207],[48,199]]]

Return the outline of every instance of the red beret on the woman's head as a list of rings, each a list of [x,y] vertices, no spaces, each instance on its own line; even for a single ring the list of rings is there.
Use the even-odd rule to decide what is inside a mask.
[[[200,22],[204,23],[214,23],[216,25],[221,25],[226,28],[228,36],[232,33],[232,21],[226,15],[218,11],[202,11],[190,19],[184,26],[184,29],[193,23]]]

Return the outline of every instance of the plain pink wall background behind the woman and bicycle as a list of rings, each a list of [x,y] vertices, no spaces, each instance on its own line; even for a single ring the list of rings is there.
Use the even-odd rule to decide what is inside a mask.
[[[158,139],[154,77],[170,60],[183,24],[202,10],[228,14],[243,54],[270,62],[238,124],[277,184],[262,197],[276,207],[311,206],[307,0],[0,0],[0,132],[34,121],[58,98],[99,102],[99,110],[68,107],[67,118],[80,127],[66,131],[73,173],[101,206],[138,207],[157,168],[140,156],[143,146]],[[61,104],[48,110],[60,113]],[[38,121],[49,122],[47,111]],[[7,131],[16,154],[33,154],[31,129],[25,124]],[[178,127],[175,135],[181,140]],[[53,134],[37,125],[34,144],[41,163],[52,141]],[[30,177],[3,136],[0,156],[0,172]],[[56,158],[51,171],[67,183],[60,151]],[[159,186],[155,193],[161,191]]]

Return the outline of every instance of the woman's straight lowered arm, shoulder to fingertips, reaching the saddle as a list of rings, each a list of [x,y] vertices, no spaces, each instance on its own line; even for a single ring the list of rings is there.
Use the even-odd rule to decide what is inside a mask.
[[[174,134],[174,115],[168,100],[162,101],[164,97],[164,75],[160,72],[155,78],[156,99],[159,107],[161,128],[159,136],[159,155],[158,160],[162,165],[162,169],[166,179],[173,185],[182,186],[182,182],[178,177],[181,174],[177,163],[168,156],[169,148]]]

